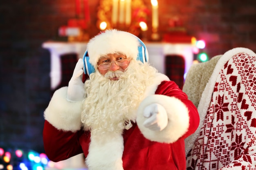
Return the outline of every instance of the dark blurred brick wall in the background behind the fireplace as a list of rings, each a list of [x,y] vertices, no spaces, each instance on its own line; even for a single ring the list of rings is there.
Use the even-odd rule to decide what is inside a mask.
[[[144,2],[151,8],[150,0]],[[89,5],[93,36],[99,32],[99,1]],[[206,41],[210,57],[238,46],[256,51],[255,0],[159,0],[159,16],[159,33],[178,18],[190,35]],[[51,90],[49,51],[41,45],[65,40],[58,37],[58,27],[74,17],[71,0],[0,2],[0,147],[43,152],[43,111]]]

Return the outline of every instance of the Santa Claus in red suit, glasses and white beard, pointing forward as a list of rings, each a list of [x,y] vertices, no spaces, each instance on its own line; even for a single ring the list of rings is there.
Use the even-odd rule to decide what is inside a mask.
[[[139,46],[115,29],[88,42],[95,72],[83,82],[79,59],[44,113],[50,160],[84,153],[88,170],[186,169],[184,139],[198,127],[198,111],[175,82],[137,60]]]

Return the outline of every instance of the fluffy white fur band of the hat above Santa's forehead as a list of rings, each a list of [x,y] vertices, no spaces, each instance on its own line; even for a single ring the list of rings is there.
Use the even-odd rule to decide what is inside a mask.
[[[117,52],[136,60],[139,40],[135,35],[116,29],[106,30],[92,38],[87,44],[89,62],[96,68],[99,58]]]

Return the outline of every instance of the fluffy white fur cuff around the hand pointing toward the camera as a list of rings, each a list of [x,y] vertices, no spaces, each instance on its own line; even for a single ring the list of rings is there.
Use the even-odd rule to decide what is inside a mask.
[[[152,131],[143,125],[146,120],[143,116],[144,108],[153,103],[161,104],[168,115],[168,125],[162,131]],[[150,95],[139,105],[137,125],[147,139],[161,143],[173,143],[182,137],[189,128],[189,110],[184,103],[175,97]]]

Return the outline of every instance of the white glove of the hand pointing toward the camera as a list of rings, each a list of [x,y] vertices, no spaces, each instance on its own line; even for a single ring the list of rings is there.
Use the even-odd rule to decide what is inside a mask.
[[[144,121],[144,126],[153,131],[161,131],[168,124],[168,116],[165,108],[157,103],[150,104],[144,109],[144,117],[147,117]]]

